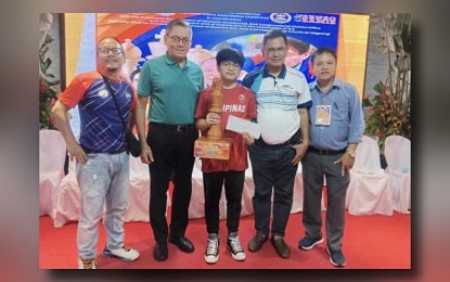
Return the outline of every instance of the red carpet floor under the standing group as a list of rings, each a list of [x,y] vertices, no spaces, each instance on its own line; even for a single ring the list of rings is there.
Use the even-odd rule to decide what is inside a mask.
[[[323,216],[325,213],[323,213]],[[324,222],[324,220],[323,220]],[[290,259],[280,258],[270,242],[257,253],[247,251],[247,243],[254,235],[254,217],[241,219],[240,236],[247,258],[235,261],[226,247],[226,221],[220,222],[220,254],[216,265],[207,265],[203,255],[206,247],[204,219],[191,220],[187,236],[195,245],[195,252],[184,254],[169,244],[169,258],[158,262],[152,257],[154,245],[152,230],[147,222],[125,225],[126,244],[138,249],[141,257],[133,262],[114,258],[101,258],[102,269],[333,269],[326,255],[325,242],[311,251],[297,248],[304,235],[301,213],[291,215],[286,230],[286,242],[292,247]],[[77,222],[63,228],[53,228],[50,217],[39,218],[39,268],[77,268],[76,246]],[[322,231],[323,233],[324,230]],[[105,231],[100,225],[99,254],[105,244]],[[347,257],[344,269],[410,269],[411,268],[411,215],[394,213],[394,216],[346,215],[346,230],[343,252]]]

